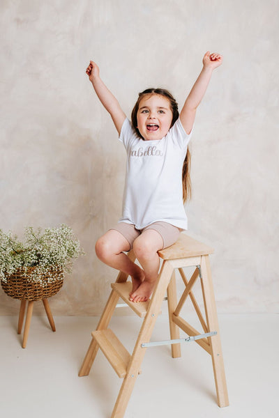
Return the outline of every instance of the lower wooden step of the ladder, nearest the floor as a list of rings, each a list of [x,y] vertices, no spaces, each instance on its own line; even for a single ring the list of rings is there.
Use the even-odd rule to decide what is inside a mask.
[[[119,378],[125,378],[131,356],[114,332],[108,328],[107,330],[93,331],[91,334]]]

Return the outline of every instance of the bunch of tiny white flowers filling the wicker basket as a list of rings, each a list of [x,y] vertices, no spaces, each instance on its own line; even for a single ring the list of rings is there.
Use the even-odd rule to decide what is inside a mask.
[[[52,280],[63,279],[63,272],[72,272],[75,258],[84,255],[73,230],[65,224],[45,231],[28,226],[24,238],[21,242],[11,231],[0,229],[0,279],[4,283],[21,272],[28,281],[47,286]]]

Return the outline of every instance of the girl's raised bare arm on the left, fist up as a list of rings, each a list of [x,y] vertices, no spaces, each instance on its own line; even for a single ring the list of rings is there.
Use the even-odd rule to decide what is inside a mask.
[[[86,74],[89,75],[89,80],[91,81],[100,102],[105,109],[107,109],[110,116],[112,116],[112,121],[114,122],[117,132],[120,134],[121,127],[126,119],[126,114],[124,114],[121,109],[118,100],[116,100],[112,92],[100,79],[100,71],[96,63],[90,61],[89,66],[86,68]]]

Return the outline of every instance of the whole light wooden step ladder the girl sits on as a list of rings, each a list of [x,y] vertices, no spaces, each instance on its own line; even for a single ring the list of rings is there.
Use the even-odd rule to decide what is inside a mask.
[[[98,348],[100,348],[110,364],[112,364],[112,367],[119,378],[123,378],[119,396],[114,405],[114,410],[112,411],[112,418],[122,418],[125,414],[130,395],[133,392],[135,380],[141,373],[140,366],[146,348],[149,345],[162,345],[162,343],[172,344],[172,357],[181,357],[181,341],[195,341],[199,346],[204,348],[204,350],[211,355],[212,359],[218,405],[220,407],[229,405],[216,303],[209,265],[209,254],[212,253],[213,249],[207,245],[181,233],[179,240],[174,245],[158,251],[160,258],[163,259],[163,263],[160,268],[156,288],[153,291],[151,300],[147,302],[130,302],[129,293],[132,284],[127,282],[127,274],[119,272],[116,282],[112,284],[112,292],[107,300],[98,327],[96,331],[92,332],[91,344],[84,357],[84,362],[82,363],[79,373],[79,376],[89,375]],[[128,253],[128,256],[132,261],[135,261],[133,250]],[[188,281],[183,272],[183,268],[189,266],[196,266],[196,268]],[[177,303],[176,297],[176,269],[179,270],[186,286],[179,303]],[[206,314],[205,320],[192,291],[193,285],[198,277],[200,278],[202,286],[204,311]],[[166,291],[171,340],[149,343],[156,319],[158,314],[160,314],[160,308]],[[132,355],[128,353],[121,341],[119,341],[112,330],[108,328],[119,297],[121,297],[121,299],[126,302],[140,318],[144,318]],[[195,330],[194,327],[179,316],[187,297],[190,297],[193,303],[204,330],[204,334],[200,334],[200,332]],[[179,329],[186,332],[189,337],[187,339],[179,339]]]

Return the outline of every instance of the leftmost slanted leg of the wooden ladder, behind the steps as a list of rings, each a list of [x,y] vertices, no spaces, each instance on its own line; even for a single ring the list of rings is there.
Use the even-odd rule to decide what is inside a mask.
[[[128,253],[128,257],[130,258],[130,260],[135,261],[135,254],[133,252],[133,250],[131,250]],[[125,281],[127,281],[128,279],[128,274],[123,273],[123,272],[119,272],[116,282],[117,283],[123,283]],[[114,309],[116,307],[116,304],[119,300],[119,295],[118,293],[116,293],[115,291],[112,290],[112,292],[110,293],[110,297],[107,300],[107,304],[105,305],[105,309],[103,311],[102,316],[100,317],[100,321],[98,323],[98,326],[96,328],[96,330],[106,330],[110,320],[112,318],[112,315],[114,313]],[[78,376],[82,377],[82,376],[88,376],[89,372],[91,370],[93,361],[98,353],[98,344],[96,343],[96,341],[94,339],[91,340],[91,343],[89,345],[89,348],[87,350],[87,353],[84,357],[84,360],[82,362],[82,366],[80,368],[79,374]]]

